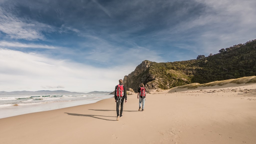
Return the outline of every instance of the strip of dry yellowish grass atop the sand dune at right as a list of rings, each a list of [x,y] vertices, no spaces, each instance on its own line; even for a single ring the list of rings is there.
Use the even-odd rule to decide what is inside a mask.
[[[213,82],[206,83],[206,84],[193,83],[193,84],[188,84],[188,85],[184,85],[184,86],[179,86],[177,88],[194,89],[194,88],[198,88],[198,87],[215,86],[215,85],[223,86],[223,85],[231,84],[231,83],[234,83],[234,84],[256,83],[256,76],[241,77],[241,78],[237,78],[237,79],[227,79],[227,80],[221,80],[221,81],[213,81]]]

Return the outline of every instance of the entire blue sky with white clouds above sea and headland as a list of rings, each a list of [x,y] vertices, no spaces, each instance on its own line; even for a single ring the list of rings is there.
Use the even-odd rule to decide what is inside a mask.
[[[113,91],[145,59],[196,59],[255,39],[255,7],[254,0],[0,0],[0,91]]]

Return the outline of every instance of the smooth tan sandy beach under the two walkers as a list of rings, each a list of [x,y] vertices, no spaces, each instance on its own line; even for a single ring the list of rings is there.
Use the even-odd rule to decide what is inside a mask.
[[[256,84],[165,90],[0,119],[0,143],[256,143]]]

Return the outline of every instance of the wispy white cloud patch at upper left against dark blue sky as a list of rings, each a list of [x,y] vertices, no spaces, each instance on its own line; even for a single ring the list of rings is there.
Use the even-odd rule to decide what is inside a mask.
[[[62,24],[60,27],[40,23],[29,17],[18,17],[12,13],[13,10],[0,7],[0,31],[11,39],[25,40],[47,40],[44,33],[79,33],[72,26]]]

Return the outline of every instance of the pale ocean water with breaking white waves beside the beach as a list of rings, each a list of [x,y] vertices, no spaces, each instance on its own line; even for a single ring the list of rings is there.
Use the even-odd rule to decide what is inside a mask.
[[[91,104],[114,95],[4,95],[0,96],[0,118]]]

